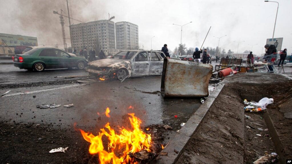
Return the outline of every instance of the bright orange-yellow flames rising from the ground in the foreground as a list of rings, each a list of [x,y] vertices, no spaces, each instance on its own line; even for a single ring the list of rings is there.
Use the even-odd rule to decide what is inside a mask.
[[[98,153],[99,163],[106,164],[120,164],[120,163],[131,163],[137,164],[133,159],[129,157],[129,153],[136,153],[141,150],[150,152],[151,135],[144,133],[140,129],[141,120],[135,117],[134,113],[128,114],[131,123],[131,129],[126,130],[124,127],[116,132],[107,123],[100,129],[101,132],[97,136],[84,132],[80,129],[83,138],[90,142],[89,153]],[[119,134],[118,134],[119,133]],[[108,145],[105,149],[102,142],[102,136],[107,137]]]

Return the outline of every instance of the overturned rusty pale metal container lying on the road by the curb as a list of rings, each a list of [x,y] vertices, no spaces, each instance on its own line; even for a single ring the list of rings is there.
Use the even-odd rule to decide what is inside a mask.
[[[211,64],[164,59],[161,94],[164,97],[206,97],[212,76]]]

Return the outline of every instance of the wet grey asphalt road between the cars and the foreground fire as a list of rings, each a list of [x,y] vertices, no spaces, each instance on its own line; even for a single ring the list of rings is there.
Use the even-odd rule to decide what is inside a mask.
[[[55,80],[54,76],[87,75],[76,69],[56,69],[35,73],[0,65],[1,84],[31,83]],[[61,128],[96,126],[105,123],[123,124],[128,113],[135,113],[143,125],[168,124],[175,130],[199,108],[199,99],[167,98],[160,94],[161,76],[130,78],[120,81],[101,81],[90,84],[64,84],[12,88],[0,98],[0,121],[7,123],[45,123]],[[0,89],[0,93],[7,88]],[[10,90],[10,89],[9,89]],[[35,97],[33,97],[35,96]],[[60,104],[61,107],[39,109],[40,104]],[[63,105],[74,104],[65,108]],[[129,109],[133,106],[134,109]],[[105,116],[109,107],[110,118]],[[99,114],[99,115],[98,115]],[[177,117],[175,117],[175,115]]]

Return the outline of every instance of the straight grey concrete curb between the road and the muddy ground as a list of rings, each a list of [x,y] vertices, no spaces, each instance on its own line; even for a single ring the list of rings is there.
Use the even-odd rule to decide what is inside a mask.
[[[165,146],[162,152],[167,152],[167,156],[160,156],[157,164],[173,164],[183,153],[183,149],[187,146],[192,135],[197,131],[201,123],[203,122],[207,112],[214,103],[216,97],[221,93],[224,83],[221,83],[213,93],[208,97],[204,104],[201,104],[199,109],[190,117],[187,123],[180,129],[180,131],[171,139],[171,141]],[[178,153],[175,153],[175,151]]]

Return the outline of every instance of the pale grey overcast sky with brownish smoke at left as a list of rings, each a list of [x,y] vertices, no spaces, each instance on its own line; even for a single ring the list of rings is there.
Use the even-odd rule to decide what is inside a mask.
[[[128,21],[139,26],[139,46],[161,49],[163,44],[173,50],[180,43],[180,27],[183,26],[182,43],[189,47],[201,47],[211,27],[204,46],[218,46],[227,52],[251,50],[260,54],[267,38],[272,38],[277,3],[264,0],[68,0],[72,16],[83,22],[108,19],[114,22]],[[283,37],[283,46],[292,53],[291,0],[278,0],[279,11],[274,38]],[[1,0],[0,33],[36,36],[39,44],[62,46],[62,32],[58,15],[53,10],[65,10],[65,0]],[[67,10],[66,10],[67,11]],[[65,11],[65,12],[66,12]],[[67,12],[66,12],[67,13]],[[290,13],[290,14],[289,14]],[[71,13],[70,13],[71,14]],[[290,16],[289,16],[290,15]],[[70,15],[71,16],[71,15]],[[66,19],[67,20],[67,19]],[[73,21],[74,24],[79,22]],[[69,27],[66,36],[69,38]],[[67,39],[69,45],[69,39]]]

